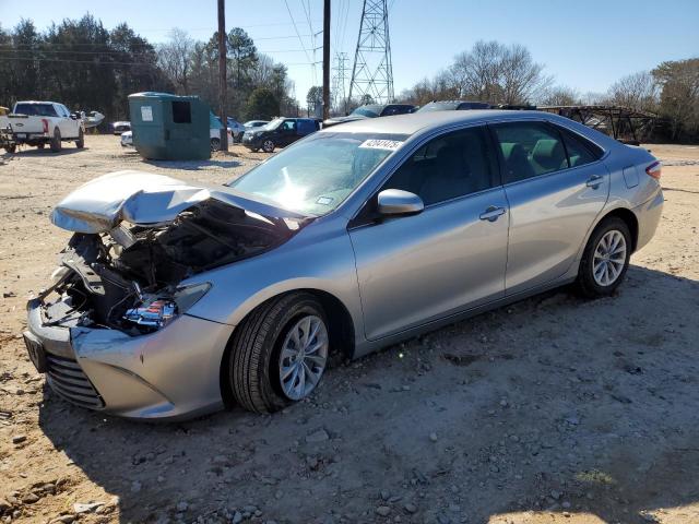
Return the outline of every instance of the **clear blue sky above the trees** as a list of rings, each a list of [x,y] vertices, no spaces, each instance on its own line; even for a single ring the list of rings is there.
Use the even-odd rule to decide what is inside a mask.
[[[244,27],[258,49],[288,64],[296,96],[305,102],[313,85],[309,61],[322,58],[322,0],[227,0],[226,26]],[[652,69],[663,60],[699,56],[699,0],[389,0],[395,92],[447,67],[454,55],[478,39],[518,43],[546,66],[556,82],[581,93],[603,92],[629,73]],[[304,5],[310,8],[306,15]],[[332,0],[332,52],[354,58],[360,0]],[[0,23],[21,17],[39,29],[86,11],[111,28],[127,22],[151,41],[166,39],[180,27],[199,39],[216,28],[216,0],[0,0]],[[345,16],[346,13],[346,16]],[[310,19],[310,27],[308,19]],[[342,35],[344,34],[344,38]],[[301,47],[306,48],[308,56]],[[316,82],[322,71],[316,67]]]

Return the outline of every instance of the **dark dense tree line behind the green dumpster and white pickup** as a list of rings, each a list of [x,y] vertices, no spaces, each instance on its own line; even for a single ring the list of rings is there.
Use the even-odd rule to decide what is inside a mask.
[[[122,23],[111,31],[86,14],[39,32],[31,20],[0,26],[0,106],[22,99],[56,100],[73,110],[128,119],[127,97],[142,91],[199,95],[214,112],[218,99],[218,35],[208,41],[173,29],[151,44]],[[286,67],[258,52],[241,28],[226,35],[226,114],[270,119],[298,111]]]

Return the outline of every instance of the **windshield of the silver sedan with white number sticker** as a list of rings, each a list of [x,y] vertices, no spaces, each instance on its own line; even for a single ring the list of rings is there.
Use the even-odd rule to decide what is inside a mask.
[[[228,186],[305,215],[340,205],[407,135],[316,133]]]

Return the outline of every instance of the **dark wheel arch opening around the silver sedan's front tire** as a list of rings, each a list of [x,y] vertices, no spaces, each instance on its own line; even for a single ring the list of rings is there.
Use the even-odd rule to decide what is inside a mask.
[[[276,300],[282,296],[291,295],[294,293],[307,293],[313,295],[318,299],[328,317],[328,329],[330,332],[329,334],[331,348],[333,349],[333,352],[339,352],[343,358],[353,358],[355,348],[354,320],[352,319],[350,310],[342,302],[342,300],[340,300],[336,296],[329,291],[308,287],[299,287],[297,289],[289,289],[283,293],[279,293],[248,311],[230,333],[228,343],[226,344],[226,348],[223,353],[221,364],[218,366],[218,384],[221,388],[221,396],[227,407],[230,407],[235,404],[233,398],[233,391],[230,390],[230,383],[228,382],[227,378],[226,365],[233,349],[233,338],[236,330],[240,324],[242,324],[242,322],[245,322],[248,317],[250,317],[250,314],[252,314],[253,311],[264,307],[272,300]]]

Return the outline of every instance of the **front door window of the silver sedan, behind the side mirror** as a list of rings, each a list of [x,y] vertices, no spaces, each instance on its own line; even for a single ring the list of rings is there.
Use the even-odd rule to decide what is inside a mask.
[[[425,144],[382,189],[410,191],[430,205],[493,187],[495,172],[484,128],[470,128]]]

